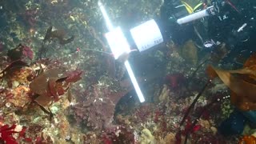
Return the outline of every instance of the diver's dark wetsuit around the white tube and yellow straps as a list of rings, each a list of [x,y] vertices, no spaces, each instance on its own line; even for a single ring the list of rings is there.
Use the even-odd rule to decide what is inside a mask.
[[[178,11],[179,0],[166,0],[161,9],[162,33],[168,40],[170,37],[174,42],[182,44],[188,39],[197,38],[194,34],[194,22],[179,26],[176,18],[186,15]],[[256,1],[255,0],[214,0],[219,6],[218,14],[207,17],[207,26],[203,27],[200,34],[203,38],[213,39],[215,42],[225,42],[235,53],[236,51],[256,51]],[[200,20],[197,20],[200,23]],[[246,23],[246,26],[238,32],[238,29]],[[200,27],[200,26],[199,26]],[[205,34],[206,33],[206,34]]]

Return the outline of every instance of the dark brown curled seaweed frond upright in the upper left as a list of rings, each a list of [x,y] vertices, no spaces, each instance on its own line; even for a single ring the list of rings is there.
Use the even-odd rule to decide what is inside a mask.
[[[72,35],[70,38],[65,38],[66,33],[64,30],[52,30],[53,26],[50,26],[46,31],[46,36],[43,39],[43,42],[50,42],[54,38],[58,39],[59,44],[66,45],[67,43],[74,41],[74,35]]]

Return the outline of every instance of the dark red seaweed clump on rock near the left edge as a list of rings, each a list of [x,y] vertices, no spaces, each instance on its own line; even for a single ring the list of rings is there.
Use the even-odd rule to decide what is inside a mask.
[[[19,44],[17,47],[15,47],[12,50],[8,50],[7,52],[8,58],[10,58],[11,62],[22,60],[24,58],[30,58],[30,60],[33,59],[33,51],[29,46]]]

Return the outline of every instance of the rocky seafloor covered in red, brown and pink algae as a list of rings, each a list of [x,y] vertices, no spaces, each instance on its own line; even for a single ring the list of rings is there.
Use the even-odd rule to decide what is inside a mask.
[[[103,3],[124,30],[157,17],[162,5],[158,0]],[[237,98],[230,91],[237,91],[220,76],[226,71],[207,67],[234,68],[232,62],[222,64],[225,44],[212,53],[192,40],[132,52],[129,61],[146,98],[140,103],[123,60],[115,61],[107,46],[96,1],[3,0],[0,6],[0,143],[254,140],[247,136],[254,134],[253,126],[245,126],[244,137],[218,131],[235,107],[244,106],[230,101]],[[249,70],[254,70],[251,59]],[[255,82],[246,72],[240,73]]]

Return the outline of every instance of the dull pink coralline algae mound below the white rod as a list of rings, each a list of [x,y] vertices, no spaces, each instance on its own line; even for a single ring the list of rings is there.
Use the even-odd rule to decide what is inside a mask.
[[[114,108],[128,90],[110,91],[108,87],[94,86],[84,102],[72,107],[78,122],[85,123],[91,130],[106,130],[113,127]]]

